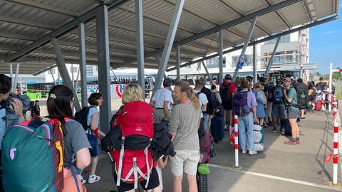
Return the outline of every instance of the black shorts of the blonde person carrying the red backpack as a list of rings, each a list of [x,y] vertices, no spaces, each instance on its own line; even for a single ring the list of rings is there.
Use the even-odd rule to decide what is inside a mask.
[[[117,178],[118,178],[118,175],[114,171],[114,182],[115,182],[115,184],[116,184]],[[142,188],[144,190],[150,190],[150,189],[153,189],[153,188],[156,188],[157,186],[159,186],[159,177],[158,177],[157,170],[155,170],[155,168],[152,168],[152,171],[150,173],[150,181],[148,181],[147,188],[145,188],[146,180],[140,181],[139,183],[140,183],[140,186],[142,186]],[[120,181],[120,186],[118,186],[118,192],[130,191],[133,188],[134,188],[134,183],[124,183],[123,181]]]

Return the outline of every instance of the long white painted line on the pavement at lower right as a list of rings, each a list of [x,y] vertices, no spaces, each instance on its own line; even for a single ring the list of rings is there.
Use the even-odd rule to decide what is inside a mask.
[[[225,169],[225,170],[229,170],[229,171],[236,171],[236,172],[240,172],[243,174],[249,174],[249,175],[254,175],[254,176],[262,176],[262,177],[266,177],[266,178],[273,178],[276,180],[280,180],[280,181],[287,181],[287,182],[291,182],[291,183],[298,183],[301,185],[306,185],[306,186],[313,186],[313,187],[317,187],[317,188],[326,188],[326,189],[330,189],[330,190],[334,190],[334,191],[342,191],[342,189],[340,188],[333,188],[331,186],[325,186],[325,185],[321,185],[321,184],[316,184],[316,183],[310,183],[310,182],[306,182],[306,181],[299,181],[296,179],[291,179],[291,178],[284,178],[284,177],[280,177],[280,176],[271,176],[271,175],[267,175],[267,174],[260,174],[257,172],[252,172],[252,171],[241,171],[241,170],[237,170],[234,167],[229,167],[229,166],[220,166],[220,165],[216,165],[216,164],[208,164],[209,166],[218,168],[218,169]]]

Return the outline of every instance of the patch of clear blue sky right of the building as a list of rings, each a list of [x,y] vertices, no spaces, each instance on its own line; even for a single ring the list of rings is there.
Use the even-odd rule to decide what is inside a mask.
[[[342,3],[340,1],[338,20],[310,28],[309,62],[318,63],[317,72],[329,73],[329,63],[333,68],[342,68]]]

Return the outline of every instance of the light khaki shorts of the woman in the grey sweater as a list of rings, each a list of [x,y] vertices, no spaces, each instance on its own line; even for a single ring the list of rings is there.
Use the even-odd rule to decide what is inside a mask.
[[[175,150],[176,155],[170,157],[171,172],[173,176],[183,175],[184,172],[188,175],[196,175],[197,164],[199,161],[199,150]]]

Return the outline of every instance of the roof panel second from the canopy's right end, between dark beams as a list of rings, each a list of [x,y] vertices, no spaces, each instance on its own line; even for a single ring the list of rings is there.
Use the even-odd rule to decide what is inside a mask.
[[[291,26],[298,26],[309,22],[309,18],[301,1],[279,9],[278,12]]]

